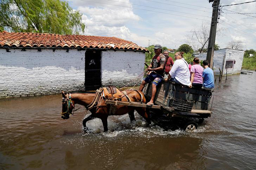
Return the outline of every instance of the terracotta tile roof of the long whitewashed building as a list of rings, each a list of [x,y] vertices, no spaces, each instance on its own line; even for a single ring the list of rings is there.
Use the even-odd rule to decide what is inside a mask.
[[[0,32],[0,48],[101,48],[147,51],[117,37]]]

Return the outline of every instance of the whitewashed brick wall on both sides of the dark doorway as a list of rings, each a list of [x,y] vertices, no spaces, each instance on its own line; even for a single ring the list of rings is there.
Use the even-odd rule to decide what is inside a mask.
[[[85,51],[0,48],[0,98],[40,96],[84,90]],[[141,83],[145,53],[102,52],[102,86]],[[139,76],[139,78],[137,78]],[[136,78],[136,79],[135,79]]]

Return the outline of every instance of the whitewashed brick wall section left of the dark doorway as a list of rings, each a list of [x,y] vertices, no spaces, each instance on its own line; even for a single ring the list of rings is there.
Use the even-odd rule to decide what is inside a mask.
[[[84,89],[85,51],[0,48],[0,98]]]

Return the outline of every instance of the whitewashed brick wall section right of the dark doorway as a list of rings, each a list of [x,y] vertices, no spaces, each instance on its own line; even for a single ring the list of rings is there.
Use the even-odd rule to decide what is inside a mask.
[[[102,52],[102,86],[140,85],[144,62],[144,52]]]

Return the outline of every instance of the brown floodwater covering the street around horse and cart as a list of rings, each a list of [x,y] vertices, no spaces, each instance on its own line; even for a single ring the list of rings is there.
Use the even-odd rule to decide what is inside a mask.
[[[218,79],[218,78],[217,78]],[[61,95],[0,100],[0,169],[256,169],[256,72],[216,82],[213,114],[196,133],[111,116],[109,132],[85,110],[60,116]],[[85,113],[85,114],[84,114]]]

